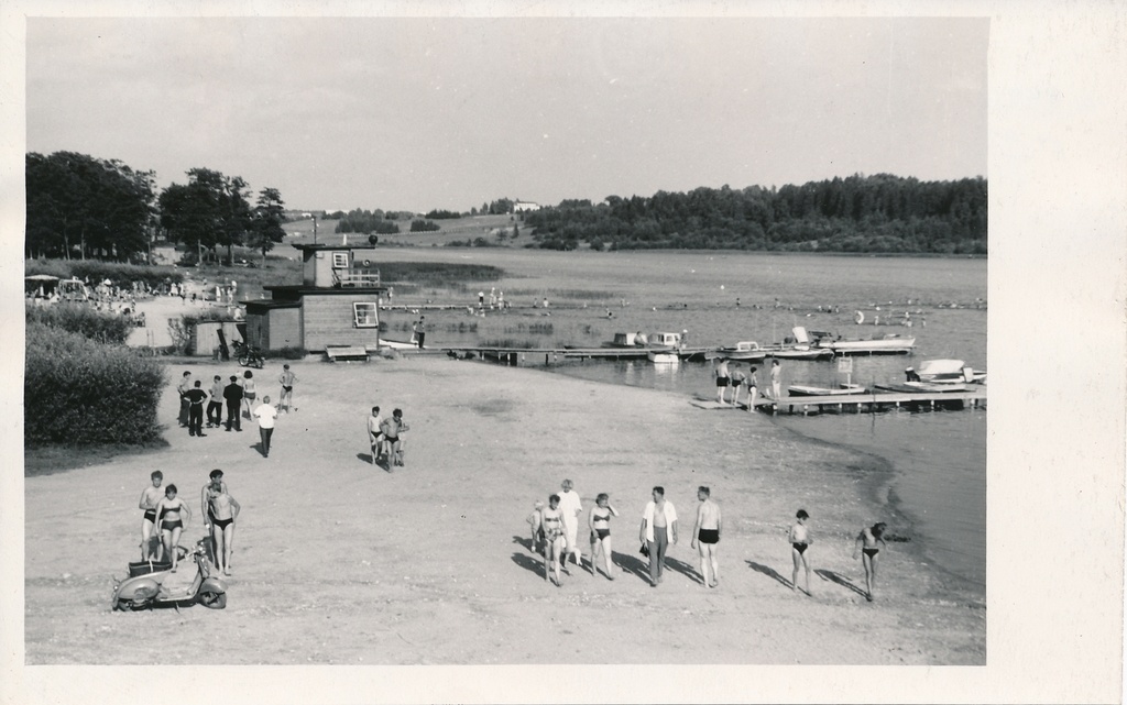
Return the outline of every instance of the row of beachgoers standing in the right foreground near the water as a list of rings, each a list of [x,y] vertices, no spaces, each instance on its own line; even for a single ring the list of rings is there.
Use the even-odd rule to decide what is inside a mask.
[[[561,572],[570,574],[567,569],[568,559],[574,556],[576,565],[585,570],[583,550],[578,542],[579,524],[583,516],[583,502],[575,491],[570,480],[560,485],[561,491],[548,498],[548,503],[538,500],[529,515],[532,527],[532,550],[544,557],[544,580],[551,580],[556,587],[561,584]],[[655,487],[651,499],[646,503],[638,528],[639,552],[649,559],[649,584],[658,587],[665,577],[665,559],[672,545],[678,539],[677,510],[665,497],[665,488]],[[693,523],[690,547],[696,551],[700,560],[700,583],[704,588],[717,588],[720,583],[719,544],[724,530],[724,514],[720,506],[712,500],[711,489],[707,485],[696,488],[696,516]],[[604,492],[595,498],[595,506],[587,515],[587,528],[591,544],[591,574],[597,575],[598,569],[609,580],[614,580],[611,548],[611,519],[619,511],[610,503],[610,497]],[[809,514],[799,509],[793,526],[788,533],[793,572],[791,588],[799,592],[799,573],[806,572],[806,594],[813,595],[810,588],[809,547],[814,537],[808,526]],[[886,525],[879,521],[871,527],[861,529],[858,534],[853,557],[861,553],[864,566],[866,599],[872,601],[877,583],[877,556],[885,546],[884,533]],[[624,569],[623,569],[624,570]]]

